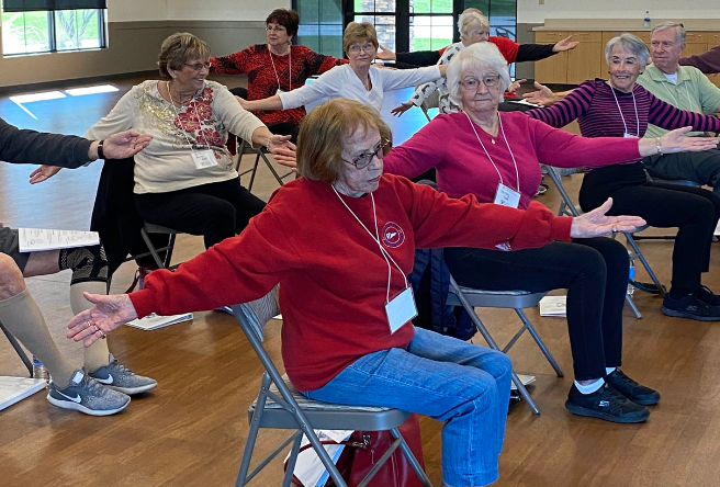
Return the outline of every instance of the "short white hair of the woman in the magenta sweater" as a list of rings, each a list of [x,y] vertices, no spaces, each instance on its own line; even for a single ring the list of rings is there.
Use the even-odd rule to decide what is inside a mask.
[[[510,86],[510,70],[497,46],[486,42],[465,47],[452,58],[447,71],[450,100],[462,109],[460,80],[463,75],[481,78],[481,75],[486,75],[487,71],[495,71],[500,76],[499,101],[505,101],[503,93]]]

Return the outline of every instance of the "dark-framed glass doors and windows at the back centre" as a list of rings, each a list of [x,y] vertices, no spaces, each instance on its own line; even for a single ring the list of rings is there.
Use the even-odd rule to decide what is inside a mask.
[[[378,41],[391,50],[440,49],[459,41],[458,15],[480,9],[491,35],[516,39],[517,0],[293,0],[300,13],[297,43],[342,57],[348,22],[372,22]],[[330,36],[326,38],[325,36]]]

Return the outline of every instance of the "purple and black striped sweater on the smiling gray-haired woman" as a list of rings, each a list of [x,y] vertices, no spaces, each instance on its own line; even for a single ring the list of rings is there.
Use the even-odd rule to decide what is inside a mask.
[[[617,103],[612,91],[617,97]],[[622,114],[618,110],[618,104]],[[622,137],[626,131],[633,136],[642,137],[649,123],[668,131],[685,126],[693,126],[693,129],[701,132],[720,131],[720,118],[716,116],[678,110],[655,98],[638,83],[633,87],[632,93],[623,93],[612,90],[601,79],[583,82],[564,100],[550,107],[524,113],[553,127],[563,127],[577,118],[583,137]],[[587,167],[593,169],[605,166],[598,162],[596,159],[590,160]]]

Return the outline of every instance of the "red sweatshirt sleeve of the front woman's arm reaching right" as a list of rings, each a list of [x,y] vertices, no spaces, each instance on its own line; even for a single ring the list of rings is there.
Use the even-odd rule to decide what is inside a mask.
[[[570,240],[572,218],[555,216],[541,203],[527,209],[479,203],[474,195],[452,199],[430,186],[394,178],[415,231],[417,248],[481,247],[509,244],[513,249]]]

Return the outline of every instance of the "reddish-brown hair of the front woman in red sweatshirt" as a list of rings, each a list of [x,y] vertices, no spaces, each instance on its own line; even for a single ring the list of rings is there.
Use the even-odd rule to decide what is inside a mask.
[[[314,181],[335,181],[342,167],[342,144],[360,127],[376,128],[382,138],[392,141],[390,127],[370,105],[335,98],[314,107],[300,123],[296,155],[300,175]]]

